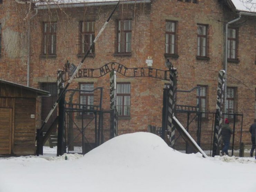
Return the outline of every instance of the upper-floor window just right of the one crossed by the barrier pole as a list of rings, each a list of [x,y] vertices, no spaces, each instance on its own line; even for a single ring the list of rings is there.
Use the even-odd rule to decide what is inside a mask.
[[[118,21],[118,53],[131,53],[132,21]]]

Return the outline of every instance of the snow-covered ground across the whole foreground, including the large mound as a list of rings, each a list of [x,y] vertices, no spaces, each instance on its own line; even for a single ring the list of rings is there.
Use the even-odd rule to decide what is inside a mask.
[[[84,156],[44,152],[0,159],[0,192],[256,191],[254,158],[184,154],[151,133],[115,137]]]

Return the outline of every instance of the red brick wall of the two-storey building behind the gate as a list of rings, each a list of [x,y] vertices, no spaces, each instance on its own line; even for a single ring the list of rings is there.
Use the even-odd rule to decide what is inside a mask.
[[[27,22],[23,10],[28,7],[4,3],[1,9],[1,22],[6,20],[3,31],[8,28],[25,35]],[[78,65],[79,50],[79,21],[94,20],[96,34],[103,26],[114,6],[83,7],[68,9],[39,10],[36,17],[31,19],[31,68],[30,85],[39,87],[40,82],[56,81],[58,69],[62,69],[66,60]],[[98,68],[114,61],[126,67],[147,67],[145,60],[153,59],[153,68],[164,69],[165,20],[177,21],[177,45],[179,58],[170,58],[178,71],[178,89],[188,90],[197,85],[207,85],[207,109],[215,111],[218,71],[223,69],[225,48],[225,22],[237,18],[218,0],[199,0],[198,3],[178,2],[176,0],[152,0],[152,3],[122,5],[114,13],[101,37],[95,45],[95,58],[86,58],[82,68]],[[115,56],[117,19],[132,19],[132,55]],[[8,20],[8,22],[7,22]],[[10,22],[10,21],[12,22]],[[42,54],[42,22],[57,22],[57,54],[56,58],[43,58]],[[7,24],[8,23],[8,24]],[[208,57],[209,60],[199,60],[197,55],[197,24],[208,25]],[[228,86],[237,87],[238,112],[244,113],[243,141],[250,143],[249,125],[254,119],[255,95],[251,90],[256,87],[255,65],[255,17],[245,17],[237,22],[239,27],[239,63],[228,63]],[[236,23],[236,24],[237,24]],[[239,24],[240,23],[240,24]],[[23,36],[22,36],[23,37]],[[22,39],[22,38],[21,38]],[[20,42],[22,42],[20,39]],[[0,60],[1,78],[26,83],[26,46],[19,43],[23,55],[12,58],[7,55],[2,42],[3,57]],[[8,72],[9,71],[9,72]],[[110,108],[109,75],[104,77],[78,78],[70,88],[78,86],[79,82],[94,82],[94,87],[104,88],[103,108]],[[149,77],[125,78],[117,74],[117,82],[131,83],[131,117],[119,119],[118,134],[146,131],[147,125],[161,126],[162,121],[162,88],[164,83],[159,79]],[[178,93],[177,104],[196,105],[196,92],[191,94]],[[38,99],[38,117],[40,117],[40,99]],[[181,122],[186,122],[186,116],[179,116]],[[38,127],[40,127],[38,119]],[[205,131],[211,131],[212,119],[204,123]],[[240,122],[237,123],[239,125]],[[195,122],[194,129],[196,130]],[[192,125],[191,125],[192,126]],[[240,128],[240,127],[239,127]],[[194,132],[195,132],[194,130]],[[191,129],[193,131],[193,129]],[[238,134],[238,133],[237,133]],[[193,135],[193,133],[192,133]],[[203,140],[208,140],[205,136]],[[203,141],[202,141],[203,142]]]

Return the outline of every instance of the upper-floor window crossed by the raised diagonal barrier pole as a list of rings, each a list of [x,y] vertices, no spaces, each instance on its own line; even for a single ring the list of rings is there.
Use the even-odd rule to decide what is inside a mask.
[[[81,35],[82,35],[82,47],[81,52],[85,54],[89,47],[92,45],[95,39],[95,22],[94,21],[83,21],[81,23]],[[94,46],[92,47],[91,53],[94,54]]]

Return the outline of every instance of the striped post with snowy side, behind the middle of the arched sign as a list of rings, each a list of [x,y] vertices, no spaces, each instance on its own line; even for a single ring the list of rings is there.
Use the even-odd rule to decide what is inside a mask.
[[[116,71],[110,72],[110,109],[113,110],[111,138],[117,136]]]

